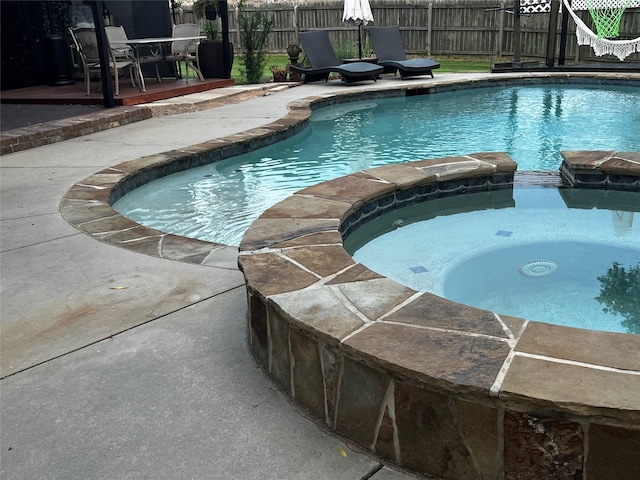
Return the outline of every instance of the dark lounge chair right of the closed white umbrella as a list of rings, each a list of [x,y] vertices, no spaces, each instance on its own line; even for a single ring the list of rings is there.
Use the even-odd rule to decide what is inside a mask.
[[[395,73],[397,70],[403,80],[418,75],[431,75],[433,78],[433,70],[440,68],[438,62],[429,58],[407,59],[399,27],[370,27],[368,30],[378,65],[385,67],[386,72],[393,70]]]

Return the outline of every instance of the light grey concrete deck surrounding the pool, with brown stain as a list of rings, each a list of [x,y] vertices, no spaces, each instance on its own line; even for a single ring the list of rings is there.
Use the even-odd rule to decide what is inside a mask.
[[[235,252],[209,266],[144,255],[96,241],[59,211],[72,185],[110,166],[274,122],[303,97],[399,82],[218,89],[3,155],[0,475],[412,478],[322,430],[258,369]],[[225,105],[232,97],[251,98]]]

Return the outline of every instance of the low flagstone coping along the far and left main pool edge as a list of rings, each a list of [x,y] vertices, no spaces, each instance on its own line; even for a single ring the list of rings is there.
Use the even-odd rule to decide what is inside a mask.
[[[311,112],[320,107],[372,98],[420,95],[469,88],[509,85],[614,84],[637,85],[640,75],[628,73],[543,72],[496,75],[476,79],[430,79],[376,85],[372,89],[339,89],[310,96],[288,105],[283,118],[245,132],[179,150],[170,150],[113,165],[74,184],[60,203],[60,213],[74,227],[105,243],[121,248],[193,264],[229,267],[235,247],[167,234],[147,228],[113,210],[120,197],[140,185],[171,173],[206,165],[273,144],[300,132]],[[303,88],[303,87],[300,87]]]

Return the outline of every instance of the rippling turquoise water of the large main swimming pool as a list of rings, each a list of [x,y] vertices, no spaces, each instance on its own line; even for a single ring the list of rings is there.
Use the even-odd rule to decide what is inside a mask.
[[[113,207],[167,233],[239,245],[278,201],[359,170],[481,151],[507,152],[519,170],[557,170],[561,150],[640,150],[640,91],[460,90],[326,107],[310,125],[275,145],[143,185]]]

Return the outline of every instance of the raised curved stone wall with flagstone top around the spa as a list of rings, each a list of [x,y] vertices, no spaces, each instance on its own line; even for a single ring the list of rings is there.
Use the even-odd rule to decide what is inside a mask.
[[[636,154],[622,157],[635,168]],[[329,428],[416,472],[640,478],[640,336],[418,293],[343,249],[343,234],[395,204],[504,188],[514,170],[499,153],[389,165],[267,210],[240,247],[250,350]]]

